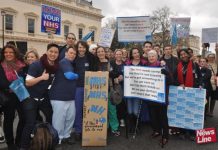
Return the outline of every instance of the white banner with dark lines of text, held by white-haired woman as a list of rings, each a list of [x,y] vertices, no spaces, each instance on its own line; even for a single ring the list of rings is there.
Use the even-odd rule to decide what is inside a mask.
[[[165,103],[165,76],[159,67],[124,67],[124,96]]]

